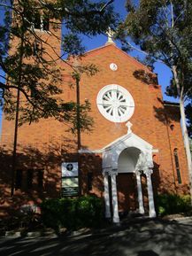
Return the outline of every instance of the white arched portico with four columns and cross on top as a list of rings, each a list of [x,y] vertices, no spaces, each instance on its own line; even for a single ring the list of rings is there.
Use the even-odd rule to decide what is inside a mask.
[[[103,150],[104,201],[105,217],[111,218],[109,177],[111,178],[112,221],[119,222],[119,207],[116,176],[120,173],[134,173],[137,182],[139,213],[144,213],[142,200],[142,172],[147,177],[150,217],[155,217],[155,206],[152,190],[152,145],[141,137],[134,135],[132,124],[127,122],[127,135],[107,145]]]

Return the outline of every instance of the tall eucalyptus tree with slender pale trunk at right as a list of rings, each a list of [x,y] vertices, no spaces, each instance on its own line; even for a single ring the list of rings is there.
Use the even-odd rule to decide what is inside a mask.
[[[127,0],[127,18],[120,24],[118,36],[124,48],[139,45],[150,63],[163,62],[173,73],[167,93],[180,101],[181,126],[188,159],[192,196],[192,163],[184,104],[191,97],[192,83],[192,1]],[[134,45],[129,41],[132,39]]]

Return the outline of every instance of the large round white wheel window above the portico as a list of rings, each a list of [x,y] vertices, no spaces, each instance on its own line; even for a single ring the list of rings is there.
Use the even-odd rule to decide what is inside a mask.
[[[99,111],[107,120],[124,122],[134,113],[134,99],[127,89],[110,84],[101,89],[96,98]]]

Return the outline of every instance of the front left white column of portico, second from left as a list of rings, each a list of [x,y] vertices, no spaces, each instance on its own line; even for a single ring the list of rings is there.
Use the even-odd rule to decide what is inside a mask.
[[[116,183],[116,175],[118,175],[118,172],[115,170],[112,170],[110,172],[110,175],[111,175],[111,192],[112,192],[112,209],[113,209],[112,222],[119,223],[118,193],[117,193],[117,183]]]

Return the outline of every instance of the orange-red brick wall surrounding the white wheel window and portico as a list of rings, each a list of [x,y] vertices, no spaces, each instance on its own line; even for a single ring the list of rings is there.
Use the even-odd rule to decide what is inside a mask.
[[[54,42],[53,42],[54,43]],[[98,111],[96,97],[100,89],[108,84],[119,84],[127,89],[134,97],[135,111],[130,121],[133,123],[132,130],[137,136],[152,144],[157,152],[154,153],[154,174],[153,180],[155,191],[182,192],[188,187],[188,170],[186,156],[180,130],[180,116],[177,107],[164,106],[161,87],[154,84],[147,84],[136,79],[133,75],[135,70],[150,70],[142,66],[134,58],[110,44],[103,48],[92,50],[81,59],[84,64],[94,63],[99,72],[89,77],[85,74],[81,76],[81,103],[85,99],[91,104],[90,116],[94,119],[92,131],[81,133],[81,147],[90,150],[101,149],[110,144],[119,136],[127,133],[125,123],[113,123],[106,120]],[[110,64],[118,65],[117,71],[111,71]],[[71,81],[71,70],[65,67],[63,74],[63,97],[65,100],[75,100],[75,88],[69,88]],[[170,130],[170,124],[174,125],[174,130]],[[13,122],[3,121],[1,146],[4,149],[12,150],[13,141]],[[61,162],[77,160],[76,136],[67,132],[65,123],[56,120],[40,120],[39,123],[24,125],[19,128],[18,137],[18,167],[22,168],[44,168],[44,197],[59,195]],[[180,171],[182,184],[178,184],[173,159],[173,149],[178,148],[180,158]],[[10,159],[12,151],[6,152]],[[68,154],[70,153],[70,155]],[[91,157],[92,159],[88,159]],[[84,159],[83,159],[84,158]],[[10,165],[11,166],[11,165]],[[102,156],[85,154],[81,156],[81,192],[83,194],[95,193],[97,196],[103,195],[103,177],[101,174]],[[87,174],[91,171],[94,174],[93,189],[88,191]],[[9,167],[4,166],[4,172],[9,172]],[[127,186],[127,183],[118,177],[119,187]],[[7,180],[6,180],[7,181]],[[128,181],[127,181],[128,182]],[[2,180],[2,184],[4,181]],[[9,193],[9,181],[6,186],[2,186],[2,192]],[[123,192],[125,193],[125,191]],[[38,195],[36,194],[38,198]],[[119,200],[122,199],[119,195]],[[127,198],[127,195],[125,195]],[[122,199],[123,200],[123,199]],[[121,201],[122,201],[121,200]],[[127,199],[122,202],[125,206]]]

